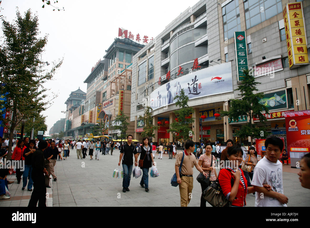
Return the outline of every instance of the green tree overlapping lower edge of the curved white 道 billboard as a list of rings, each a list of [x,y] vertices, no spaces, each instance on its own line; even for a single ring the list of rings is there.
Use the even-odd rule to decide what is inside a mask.
[[[170,129],[168,129],[167,132],[175,132],[175,138],[185,142],[193,135],[193,131],[188,125],[195,121],[195,118],[189,116],[190,113],[193,113],[194,109],[188,106],[189,99],[188,96],[185,95],[184,89],[181,90],[178,96],[175,96],[175,99],[177,99],[175,106],[179,106],[180,108],[174,111],[178,121],[170,123]]]

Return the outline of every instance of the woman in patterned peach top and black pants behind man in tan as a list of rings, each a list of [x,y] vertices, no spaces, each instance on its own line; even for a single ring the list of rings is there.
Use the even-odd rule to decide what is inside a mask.
[[[201,166],[202,170],[206,172],[207,178],[210,177],[210,182],[215,181],[217,178],[217,173],[215,170],[215,156],[211,154],[212,146],[210,143],[206,144],[206,153],[201,154],[198,160],[198,165]],[[211,157],[212,156],[212,157]],[[212,160],[212,164],[211,164]],[[201,191],[203,192],[208,185],[200,183]],[[200,207],[206,207],[206,200],[202,197],[200,198]]]

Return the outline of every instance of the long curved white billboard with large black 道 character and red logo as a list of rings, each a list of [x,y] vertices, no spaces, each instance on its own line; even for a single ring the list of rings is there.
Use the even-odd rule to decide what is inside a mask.
[[[162,85],[151,93],[151,108],[175,103],[181,89],[190,100],[232,92],[231,62],[197,70]]]

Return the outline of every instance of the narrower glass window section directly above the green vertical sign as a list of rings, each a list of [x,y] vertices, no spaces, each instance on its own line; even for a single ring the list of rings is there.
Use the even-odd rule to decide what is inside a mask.
[[[222,7],[224,39],[232,38],[234,32],[241,31],[238,0],[229,2]]]

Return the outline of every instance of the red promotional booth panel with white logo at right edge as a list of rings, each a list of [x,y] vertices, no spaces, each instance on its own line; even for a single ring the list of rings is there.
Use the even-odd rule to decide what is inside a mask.
[[[285,113],[287,152],[291,167],[299,168],[300,160],[310,151],[310,110]]]

